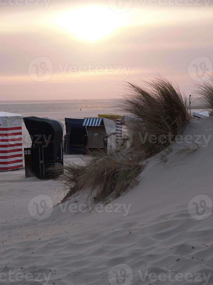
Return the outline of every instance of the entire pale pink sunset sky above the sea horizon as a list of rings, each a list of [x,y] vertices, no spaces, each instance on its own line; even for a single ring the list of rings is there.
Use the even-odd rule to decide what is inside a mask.
[[[0,0],[0,100],[107,99],[213,71],[210,0]]]

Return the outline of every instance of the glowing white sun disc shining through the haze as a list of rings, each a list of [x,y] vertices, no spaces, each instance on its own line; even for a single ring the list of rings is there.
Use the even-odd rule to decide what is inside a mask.
[[[86,41],[96,41],[122,26],[120,15],[101,7],[75,8],[55,19],[58,27]]]

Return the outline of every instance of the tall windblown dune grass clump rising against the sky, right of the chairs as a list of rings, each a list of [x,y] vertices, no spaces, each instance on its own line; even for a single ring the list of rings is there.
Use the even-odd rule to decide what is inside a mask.
[[[132,146],[150,157],[168,147],[190,120],[184,96],[178,86],[156,76],[141,87],[127,83],[127,93],[119,100],[123,113],[130,115],[128,129]]]

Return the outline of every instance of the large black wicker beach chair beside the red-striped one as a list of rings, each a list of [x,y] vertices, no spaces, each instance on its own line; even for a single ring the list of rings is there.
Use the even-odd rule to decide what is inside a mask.
[[[38,178],[53,178],[63,173],[63,129],[54,120],[39,117],[24,117],[30,134],[32,175]],[[29,153],[29,152],[28,152]]]

